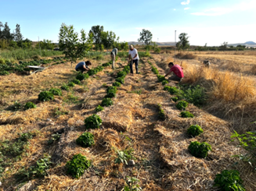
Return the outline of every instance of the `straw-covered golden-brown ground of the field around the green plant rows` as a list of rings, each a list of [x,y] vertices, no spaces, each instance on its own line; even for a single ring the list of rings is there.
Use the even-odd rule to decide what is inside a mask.
[[[210,69],[200,70],[202,60],[209,58],[212,68],[222,69],[220,73],[234,78],[241,73],[247,75],[238,80],[247,87],[243,91],[248,94],[237,96],[237,100],[211,90],[215,97],[209,96],[209,102],[200,107],[189,103],[186,111],[194,117],[182,118],[181,111],[176,108],[178,102],[171,100],[175,95],[164,90],[164,86],[178,87],[178,84],[168,80],[162,85],[152,72],[155,67],[160,75],[164,75],[168,62],[174,60],[173,52],[141,58],[140,74],[132,76],[128,73],[124,84],[117,87],[116,97],[112,98],[114,104],[98,112],[95,109],[102,104],[107,88],[125,69],[125,58],[117,59],[117,69],[104,66],[80,84],[62,90],[62,95],[56,95],[51,101],[38,101],[38,94],[51,88],[60,89],[64,83],[75,80],[77,72],[70,67],[70,62],[52,65],[29,76],[16,73],[0,76],[1,150],[13,152],[0,155],[4,159],[0,168],[2,190],[122,190],[127,176],[139,179],[137,183],[142,190],[218,190],[213,187],[215,175],[225,169],[238,170],[246,190],[255,190],[256,173],[249,164],[232,157],[245,153],[245,150],[230,142],[230,136],[234,129],[239,132],[255,128],[249,122],[255,120],[254,73],[251,69],[256,55],[222,55],[221,52],[195,55],[197,58],[194,59],[176,60],[183,62],[185,68],[187,77],[182,83],[200,84],[206,88],[210,83],[220,86],[214,76],[210,78],[208,75],[209,79],[206,79],[204,74],[195,75],[198,71],[213,73]],[[109,55],[100,61],[92,60],[92,68],[109,61]],[[237,62],[246,67],[237,70],[228,67],[227,61],[228,66]],[[36,108],[25,110],[23,105],[28,101],[36,104]],[[229,105],[223,108],[224,103]],[[93,114],[102,119],[99,129],[85,126],[85,118]],[[201,126],[204,133],[189,137],[186,132],[192,125]],[[94,136],[95,143],[91,147],[84,148],[76,143],[85,132]],[[24,133],[27,133],[26,137],[31,136],[23,138],[20,147],[18,143]],[[192,141],[211,144],[209,155],[193,157],[188,150]],[[116,161],[117,158],[120,160],[122,151],[128,153],[127,161],[132,159],[135,163],[118,164]],[[67,174],[67,161],[75,154],[82,154],[92,161],[92,166],[80,179]],[[28,173],[42,158],[49,165],[47,171],[41,171],[38,177]]]

